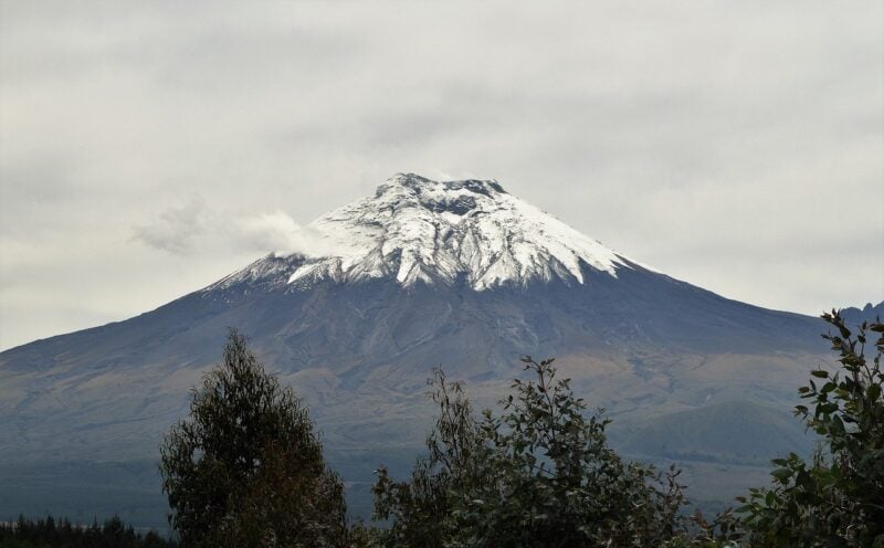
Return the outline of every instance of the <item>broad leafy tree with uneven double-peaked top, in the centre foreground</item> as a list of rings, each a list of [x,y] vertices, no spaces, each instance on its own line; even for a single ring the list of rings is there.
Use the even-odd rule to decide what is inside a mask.
[[[379,471],[376,518],[387,547],[661,546],[683,533],[677,471],[625,462],[609,421],[587,417],[552,360],[525,358],[502,413],[474,419],[457,383],[431,382],[440,415],[408,482]]]

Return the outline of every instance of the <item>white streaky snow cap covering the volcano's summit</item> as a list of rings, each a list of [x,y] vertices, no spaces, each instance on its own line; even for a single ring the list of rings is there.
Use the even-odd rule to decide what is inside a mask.
[[[507,193],[494,180],[433,181],[398,173],[373,196],[307,226],[323,254],[281,251],[220,282],[282,281],[308,287],[319,280],[396,278],[476,291],[533,281],[583,283],[583,266],[617,277],[631,267],[601,243]]]

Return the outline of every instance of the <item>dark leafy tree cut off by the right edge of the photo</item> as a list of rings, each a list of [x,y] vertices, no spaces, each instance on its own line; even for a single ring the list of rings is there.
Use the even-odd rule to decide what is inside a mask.
[[[883,548],[884,325],[863,323],[854,335],[835,310],[822,317],[834,327],[823,337],[840,367],[811,371],[798,390],[809,402],[796,408],[821,446],[810,462],[796,454],[775,460],[772,486],[751,489],[740,512],[759,546]]]

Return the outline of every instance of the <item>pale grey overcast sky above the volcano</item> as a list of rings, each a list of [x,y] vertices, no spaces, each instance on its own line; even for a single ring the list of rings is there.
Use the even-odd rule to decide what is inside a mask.
[[[0,4],[0,348],[124,319],[397,171],[635,260],[884,299],[884,4]]]

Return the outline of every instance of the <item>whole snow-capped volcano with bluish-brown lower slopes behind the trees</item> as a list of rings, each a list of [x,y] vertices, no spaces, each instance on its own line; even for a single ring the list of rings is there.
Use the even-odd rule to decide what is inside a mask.
[[[673,280],[493,180],[397,175],[306,230],[315,250],[280,250],[156,310],[0,354],[0,462],[46,482],[60,463],[155,466],[229,326],[306,399],[355,491],[379,461],[411,461],[433,367],[481,407],[520,375],[522,355],[557,357],[633,453],[765,465],[802,449],[788,409],[825,350],[815,318]],[[654,434],[675,428],[667,417],[678,449]],[[687,443],[682,426],[701,419]],[[123,483],[102,493],[125,498]],[[6,485],[22,509],[27,485]],[[42,493],[41,508],[62,512],[63,496]]]

